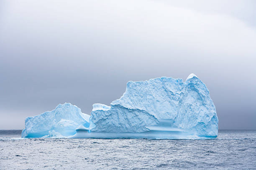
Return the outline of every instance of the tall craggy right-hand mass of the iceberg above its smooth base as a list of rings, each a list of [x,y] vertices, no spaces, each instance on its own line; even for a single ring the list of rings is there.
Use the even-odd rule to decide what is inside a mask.
[[[205,84],[194,74],[189,75],[185,82],[172,77],[129,81],[123,96],[113,101],[109,110],[92,111],[91,115],[90,121],[96,124],[92,131],[97,129],[97,132],[142,132],[147,130],[146,125],[170,120],[170,127],[193,135],[218,135],[215,105]],[[143,119],[139,119],[138,115]],[[136,119],[120,121],[120,117],[125,120],[128,116]],[[116,124],[124,122],[124,125],[129,124],[129,126],[121,129],[118,128],[119,126],[113,128],[112,125],[110,126],[110,120]],[[137,130],[130,129],[138,125],[140,126]]]

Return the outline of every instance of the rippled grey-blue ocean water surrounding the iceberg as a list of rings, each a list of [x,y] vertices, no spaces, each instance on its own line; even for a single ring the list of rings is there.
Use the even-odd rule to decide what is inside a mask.
[[[0,170],[256,170],[256,130],[216,139],[43,139],[0,130]]]

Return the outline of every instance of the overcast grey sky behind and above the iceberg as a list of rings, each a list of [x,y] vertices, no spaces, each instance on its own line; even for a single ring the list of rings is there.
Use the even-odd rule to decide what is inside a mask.
[[[255,0],[0,0],[0,129],[128,80],[195,73],[220,129],[256,129]]]

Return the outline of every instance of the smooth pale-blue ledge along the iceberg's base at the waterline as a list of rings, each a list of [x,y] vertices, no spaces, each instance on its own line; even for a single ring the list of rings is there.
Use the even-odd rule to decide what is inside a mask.
[[[49,135],[29,133],[26,138],[133,138],[133,139],[212,139],[216,136],[197,134],[197,130],[181,129],[174,126],[173,120],[161,119],[156,125],[145,126],[147,131],[140,133],[133,132],[95,132],[91,131],[93,126],[84,127],[80,125],[77,129],[68,131],[49,130]],[[25,130],[23,130],[25,131]],[[24,132],[26,133],[26,132]],[[212,133],[216,134],[216,133]],[[217,133],[218,134],[218,133]]]

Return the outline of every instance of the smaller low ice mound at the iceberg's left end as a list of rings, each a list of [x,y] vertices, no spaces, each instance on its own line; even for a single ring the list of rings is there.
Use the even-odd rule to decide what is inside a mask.
[[[70,103],[59,104],[54,110],[34,117],[27,117],[22,138],[63,138],[74,135],[83,125],[89,127],[90,115]]]

